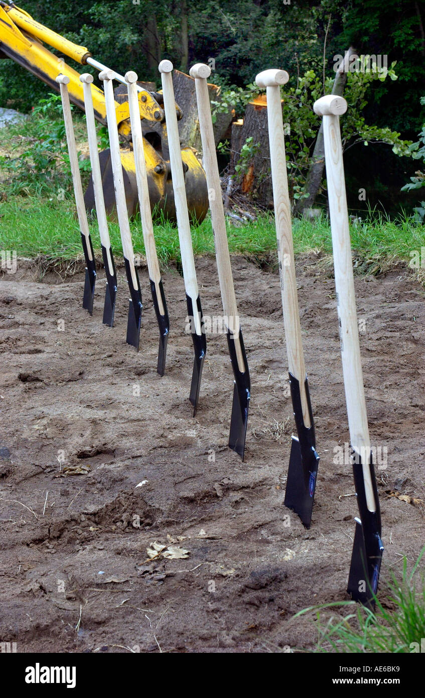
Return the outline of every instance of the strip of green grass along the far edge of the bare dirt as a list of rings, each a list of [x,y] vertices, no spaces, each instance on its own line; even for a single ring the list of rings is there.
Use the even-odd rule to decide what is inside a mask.
[[[96,218],[90,221],[92,242],[100,250]],[[131,223],[135,253],[144,253],[140,218]],[[405,216],[390,221],[375,216],[360,225],[351,226],[352,248],[362,260],[375,265],[376,271],[386,269],[397,259],[410,260],[410,252],[425,244],[425,226],[414,223]],[[322,251],[331,253],[331,232],[326,216],[317,221],[297,219],[293,222],[294,251],[303,253]],[[110,237],[114,254],[122,255],[119,227],[110,224]],[[158,256],[163,265],[179,260],[177,228],[163,222],[155,226]],[[209,217],[192,228],[195,255],[214,254],[214,237]],[[228,222],[228,239],[231,253],[264,259],[276,254],[276,232],[271,214],[262,214],[256,221],[237,226]],[[82,248],[75,205],[72,200],[39,200],[35,197],[10,197],[0,205],[0,247],[16,250],[18,255],[36,257],[39,253],[48,258],[70,259],[81,255]]]

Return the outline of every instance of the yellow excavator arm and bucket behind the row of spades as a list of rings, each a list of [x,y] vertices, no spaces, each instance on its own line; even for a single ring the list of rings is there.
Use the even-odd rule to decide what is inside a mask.
[[[58,91],[56,77],[59,73],[67,75],[70,101],[84,110],[84,97],[80,73],[66,64],[63,58],[53,54],[45,47],[53,47],[61,54],[73,59],[82,66],[92,66],[96,70],[106,70],[107,66],[96,61],[89,50],[78,46],[56,32],[39,24],[31,15],[18,8],[15,3],[0,0],[0,58],[13,59],[30,73],[39,77],[52,89]],[[124,77],[116,73],[117,81],[125,83]],[[140,120],[144,137],[144,158],[149,181],[151,208],[162,210],[167,218],[175,220],[174,195],[172,190],[170,157],[168,154],[167,130],[163,96],[157,92],[137,85],[139,97]],[[103,91],[91,85],[94,114],[101,124],[106,124],[105,96]],[[115,113],[120,135],[124,138],[121,147],[121,162],[124,170],[126,202],[128,214],[132,216],[137,209],[137,185],[135,179],[135,162],[131,142],[130,112],[125,91],[115,91]],[[125,100],[125,101],[124,101]],[[177,117],[181,110],[176,105]],[[204,170],[197,159],[196,151],[190,146],[181,147],[184,163],[184,176],[188,209],[191,217],[202,221],[208,210],[208,191]],[[112,214],[115,207],[114,182],[110,163],[110,151],[100,153],[100,168],[103,177],[103,191],[107,212]],[[93,185],[90,182],[84,196],[87,209],[94,209]]]

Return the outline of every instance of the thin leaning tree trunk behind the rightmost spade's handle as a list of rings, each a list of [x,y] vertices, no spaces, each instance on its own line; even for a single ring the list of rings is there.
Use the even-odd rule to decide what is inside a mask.
[[[351,46],[345,52],[343,64],[336,73],[331,94],[343,96],[345,82],[347,82],[347,71],[350,56],[355,53]],[[325,167],[325,143],[323,142],[323,123],[320,124],[318,137],[316,138],[313,156],[311,158],[310,169],[306,177],[304,193],[308,193],[306,198],[298,199],[295,205],[295,213],[300,214],[304,209],[311,209],[318,195],[320,184],[322,184],[323,168]]]

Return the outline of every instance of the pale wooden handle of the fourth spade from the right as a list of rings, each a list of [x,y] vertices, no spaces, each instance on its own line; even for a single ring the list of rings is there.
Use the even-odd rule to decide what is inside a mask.
[[[189,222],[186,188],[184,186],[183,163],[181,161],[179,127],[177,126],[177,112],[174,101],[174,87],[172,85],[172,62],[161,61],[158,70],[161,73],[163,84],[163,98],[165,121],[167,124],[168,148],[170,151],[170,165],[172,176],[172,188],[174,191],[174,205],[176,207],[177,228],[179,229],[179,243],[181,253],[181,266],[183,267],[184,285],[186,293],[192,299],[193,318],[195,320],[196,334],[202,334],[199,313],[197,312],[196,299],[199,295],[196,280],[195,259],[191,238],[191,223]]]

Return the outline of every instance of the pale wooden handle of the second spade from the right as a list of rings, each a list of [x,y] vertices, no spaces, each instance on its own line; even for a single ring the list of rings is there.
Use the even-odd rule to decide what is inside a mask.
[[[297,279],[295,278],[294,244],[292,241],[291,209],[288,191],[288,174],[286,172],[285,138],[283,136],[283,117],[281,106],[281,84],[289,80],[285,70],[264,70],[255,77],[258,87],[267,88],[267,121],[269,126],[269,145],[271,161],[271,180],[273,184],[274,216],[276,218],[276,235],[278,241],[279,269],[281,271],[281,292],[283,306],[283,324],[285,325],[286,351],[288,369],[299,381],[301,407],[304,424],[311,426],[306,396],[306,366],[301,340],[301,323]]]

